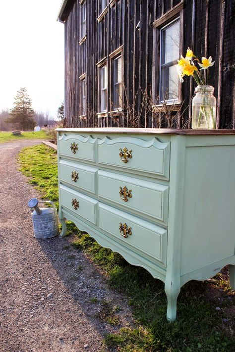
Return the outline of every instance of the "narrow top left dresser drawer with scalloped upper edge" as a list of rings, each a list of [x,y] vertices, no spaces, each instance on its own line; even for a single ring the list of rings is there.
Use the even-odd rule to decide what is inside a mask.
[[[96,162],[96,138],[78,134],[62,134],[58,139],[59,155]]]

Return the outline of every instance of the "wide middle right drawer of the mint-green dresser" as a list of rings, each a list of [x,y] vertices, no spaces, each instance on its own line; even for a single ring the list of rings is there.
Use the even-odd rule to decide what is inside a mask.
[[[121,176],[112,172],[98,172],[99,197],[168,223],[169,187],[153,182]]]

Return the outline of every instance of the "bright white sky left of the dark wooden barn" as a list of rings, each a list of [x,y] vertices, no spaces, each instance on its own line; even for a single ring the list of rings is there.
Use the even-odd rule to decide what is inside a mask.
[[[26,87],[35,111],[55,118],[63,101],[62,0],[0,0],[0,110]]]

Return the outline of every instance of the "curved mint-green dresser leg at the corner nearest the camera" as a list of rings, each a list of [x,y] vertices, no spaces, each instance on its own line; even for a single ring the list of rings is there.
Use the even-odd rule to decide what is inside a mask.
[[[177,297],[180,292],[180,285],[174,282],[174,280],[167,280],[165,282],[165,292],[167,295],[167,320],[175,321]]]

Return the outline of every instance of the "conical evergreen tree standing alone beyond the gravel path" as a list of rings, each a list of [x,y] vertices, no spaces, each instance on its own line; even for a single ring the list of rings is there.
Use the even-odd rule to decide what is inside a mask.
[[[34,110],[26,88],[20,88],[14,100],[14,107],[10,109],[10,117],[5,122],[12,124],[18,130],[33,130],[36,126],[33,119]]]

